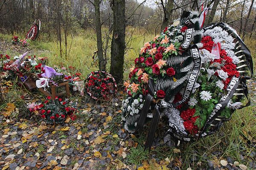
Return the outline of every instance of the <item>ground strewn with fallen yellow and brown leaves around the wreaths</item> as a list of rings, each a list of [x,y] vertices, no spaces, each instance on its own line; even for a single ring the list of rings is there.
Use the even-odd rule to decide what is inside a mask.
[[[26,50],[11,45],[0,41],[0,53]],[[40,101],[43,96],[13,87],[6,91],[5,103],[0,107],[0,168],[253,170],[256,169],[256,79],[250,80],[248,87],[251,106],[235,112],[220,131],[175,147],[162,121],[150,153],[144,151],[148,125],[137,137],[122,127],[122,91],[109,102],[93,102],[76,94],[70,98],[79,103],[76,121],[51,126],[26,109],[26,103]]]

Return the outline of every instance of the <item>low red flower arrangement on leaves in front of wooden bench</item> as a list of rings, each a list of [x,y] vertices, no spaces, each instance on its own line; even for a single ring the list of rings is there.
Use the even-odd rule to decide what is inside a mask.
[[[47,124],[61,124],[67,117],[71,120],[76,119],[77,109],[72,106],[71,102],[62,101],[61,98],[55,97],[51,99],[50,96],[41,104],[29,104],[28,107],[31,113],[39,113]]]

